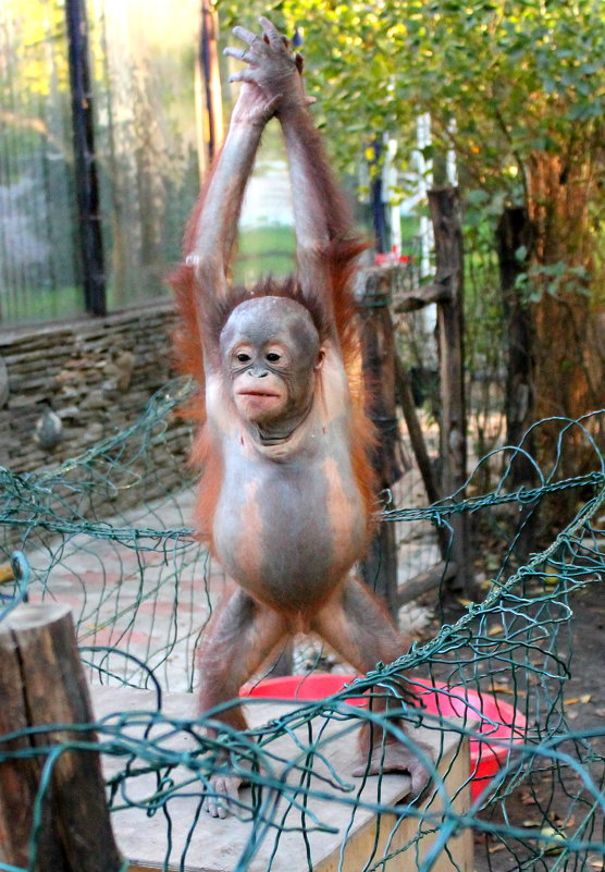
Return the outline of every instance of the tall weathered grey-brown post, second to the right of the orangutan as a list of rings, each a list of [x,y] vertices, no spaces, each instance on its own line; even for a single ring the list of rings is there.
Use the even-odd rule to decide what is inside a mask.
[[[464,370],[462,231],[458,192],[453,187],[429,192],[435,237],[435,284],[446,293],[437,303],[440,357],[440,456],[444,498],[462,488],[467,478],[467,418]],[[460,491],[455,502],[464,500]],[[452,588],[471,593],[468,515],[449,518],[453,528],[452,560],[457,574]]]

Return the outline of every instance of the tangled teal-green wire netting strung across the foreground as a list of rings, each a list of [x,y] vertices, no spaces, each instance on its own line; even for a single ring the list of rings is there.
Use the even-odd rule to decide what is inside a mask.
[[[490,493],[476,492],[484,480],[479,469],[461,502],[387,513],[402,529],[418,520],[448,529],[455,513],[469,513],[478,531],[473,570],[486,582],[461,616],[437,606],[434,635],[396,663],[378,664],[328,698],[279,705],[269,722],[263,709],[249,733],[223,729],[214,740],[202,729],[212,713],[196,716],[187,691],[195,685],[196,647],[225,581],[187,526],[190,482],[175,489],[175,474],[185,474],[168,439],[188,390],[169,385],[127,432],[52,471],[0,470],[0,548],[7,560],[15,551],[25,555],[15,558],[20,578],[2,588],[1,607],[5,614],[24,597],[72,606],[100,705],[98,744],[85,750],[103,753],[119,838],[139,831],[153,842],[160,868],[206,869],[214,867],[207,864],[205,834],[215,838],[217,826],[239,827],[225,869],[297,872],[311,869],[336,837],[345,847],[330,868],[347,870],[354,830],[366,812],[381,811],[356,870],[603,869],[605,712],[580,726],[568,690],[575,622],[587,591],[605,577],[605,463],[594,441],[603,413],[556,422],[553,456],[534,463],[531,487],[511,484],[527,449],[503,449],[482,460],[499,470]],[[543,429],[552,433],[553,421],[536,425],[536,442]],[[568,451],[584,460],[591,454],[585,468],[592,471],[561,478]],[[523,531],[539,509],[550,533],[523,557]],[[410,702],[410,689],[424,707]],[[437,748],[435,761],[424,757],[431,782],[420,799],[394,803],[388,797],[399,776],[356,778],[343,762],[359,724],[379,720],[371,704],[347,700],[386,691],[411,727],[399,738],[419,754],[428,736]],[[254,722],[266,703],[254,698],[249,704]],[[458,717],[444,721],[439,712]],[[508,730],[498,729],[502,723]],[[470,765],[460,757],[466,738]],[[210,776],[225,767],[225,749],[230,767],[245,771],[251,789],[232,819],[217,821],[201,802]],[[0,737],[0,763],[14,753]],[[35,836],[28,870],[36,868]],[[474,859],[465,865],[460,857],[468,859],[472,846]],[[0,862],[0,869],[11,867]]]

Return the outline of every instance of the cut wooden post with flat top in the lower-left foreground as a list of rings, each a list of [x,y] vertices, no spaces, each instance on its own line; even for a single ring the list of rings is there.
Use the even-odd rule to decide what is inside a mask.
[[[0,700],[0,861],[29,869],[32,827],[39,824],[36,870],[118,872],[123,861],[98,752],[62,751],[42,783],[49,751],[96,741],[90,728],[70,729],[94,717],[69,606],[20,605],[4,618]],[[27,733],[53,725],[61,728]]]

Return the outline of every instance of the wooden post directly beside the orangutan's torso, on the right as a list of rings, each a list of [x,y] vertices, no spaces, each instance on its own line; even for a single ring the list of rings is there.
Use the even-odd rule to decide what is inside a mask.
[[[363,377],[372,403],[370,416],[379,430],[373,457],[382,490],[400,475],[397,464],[397,414],[395,407],[395,335],[388,310],[391,273],[380,268],[365,273],[361,299]],[[366,584],[382,597],[393,616],[397,614],[397,542],[394,524],[382,523],[362,565]]]

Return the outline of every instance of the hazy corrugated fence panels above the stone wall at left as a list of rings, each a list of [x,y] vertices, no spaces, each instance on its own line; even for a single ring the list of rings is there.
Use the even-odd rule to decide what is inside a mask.
[[[75,61],[74,11],[88,25],[87,56]],[[98,212],[89,219],[100,225],[104,308],[164,293],[199,186],[198,32],[196,0],[4,0],[0,327],[91,310],[78,209],[82,174],[91,170]],[[74,88],[78,62],[89,74],[82,97]],[[78,112],[90,126],[84,165],[74,149]]]

